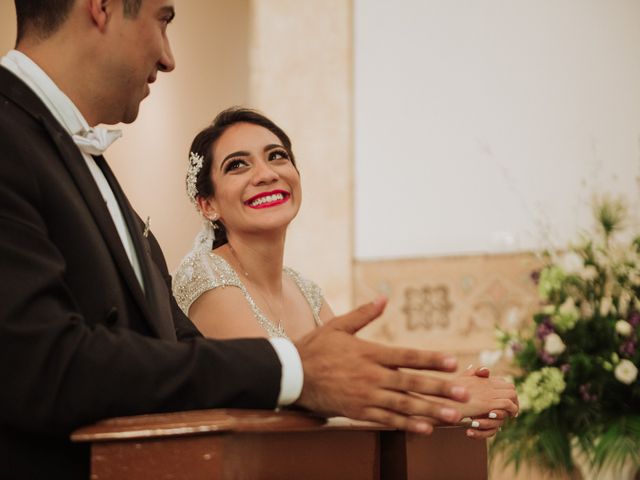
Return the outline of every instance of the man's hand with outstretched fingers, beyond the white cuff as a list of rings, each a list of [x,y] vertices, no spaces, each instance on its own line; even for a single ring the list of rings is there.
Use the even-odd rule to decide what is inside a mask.
[[[455,403],[443,406],[419,395],[468,400],[467,389],[432,378],[418,370],[456,369],[456,359],[442,353],[392,348],[358,339],[354,334],[380,316],[379,299],[336,317],[296,342],[304,370],[304,385],[296,405],[325,415],[378,422],[416,433],[431,433],[431,417],[456,423]]]

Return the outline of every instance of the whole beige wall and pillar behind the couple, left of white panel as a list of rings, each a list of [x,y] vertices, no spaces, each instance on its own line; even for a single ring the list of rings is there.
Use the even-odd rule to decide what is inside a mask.
[[[170,269],[199,217],[184,193],[188,148],[221,109],[262,109],[290,134],[304,202],[287,263],[315,279],[336,311],[351,288],[351,3],[344,0],[176,2],[177,68],[161,74],[138,120],[107,159],[140,216],[150,217]],[[13,2],[0,3],[0,51],[13,46]]]

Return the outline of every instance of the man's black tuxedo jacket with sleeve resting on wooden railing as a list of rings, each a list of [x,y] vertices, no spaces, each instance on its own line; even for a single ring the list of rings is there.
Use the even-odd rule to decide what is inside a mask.
[[[272,408],[266,340],[202,338],[170,294],[160,248],[101,157],[140,260],[140,287],[70,136],[0,67],[0,478],[89,477],[70,432],[99,419]]]

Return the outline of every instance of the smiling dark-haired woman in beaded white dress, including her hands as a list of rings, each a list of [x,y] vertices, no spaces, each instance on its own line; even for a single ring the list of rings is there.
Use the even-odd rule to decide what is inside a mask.
[[[193,140],[187,194],[205,218],[174,276],[180,308],[203,335],[297,340],[333,318],[320,288],[283,267],[302,191],[287,134],[264,115],[230,108]],[[231,287],[231,288],[230,288]],[[485,377],[485,378],[481,378]],[[495,434],[518,411],[513,385],[469,369],[468,435]]]

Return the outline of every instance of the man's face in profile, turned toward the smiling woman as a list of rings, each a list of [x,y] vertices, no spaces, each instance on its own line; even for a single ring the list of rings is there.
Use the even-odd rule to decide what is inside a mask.
[[[167,37],[173,16],[173,0],[143,0],[135,17],[125,17],[121,1],[114,2],[107,27],[110,55],[105,60],[102,91],[96,92],[102,97],[102,123],[133,122],[158,70],[175,68]]]

